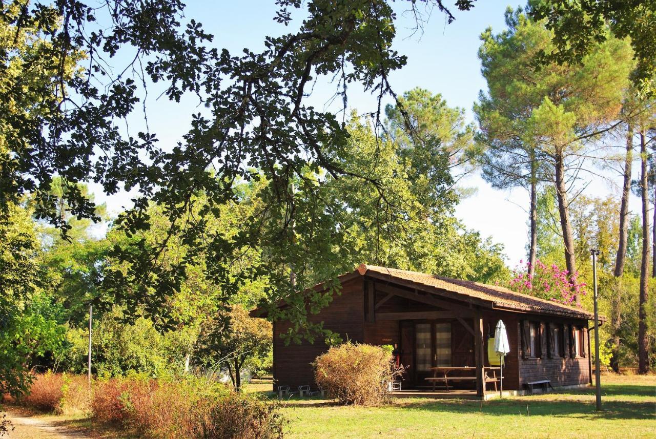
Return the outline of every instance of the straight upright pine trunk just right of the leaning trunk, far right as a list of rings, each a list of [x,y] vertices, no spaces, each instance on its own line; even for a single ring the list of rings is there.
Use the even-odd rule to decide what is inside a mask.
[[[649,372],[647,356],[647,280],[649,278],[649,187],[647,185],[647,144],[640,132],[640,189],[642,193],[642,259],[640,261],[640,304],[638,310],[638,373]]]

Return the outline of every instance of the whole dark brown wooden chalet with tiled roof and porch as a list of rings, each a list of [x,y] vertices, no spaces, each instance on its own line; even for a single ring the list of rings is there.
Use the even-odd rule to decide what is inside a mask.
[[[582,309],[500,286],[365,264],[339,280],[340,294],[309,320],[354,342],[396,345],[406,368],[401,392],[438,394],[443,392],[439,387],[483,398],[493,393],[498,375],[490,371],[498,357],[488,345],[492,351],[498,320],[506,325],[510,343],[504,391],[532,391],[535,383],[592,382],[588,322],[594,317]],[[259,309],[251,315],[264,316]],[[288,328],[288,322],[274,322],[274,390],[315,388],[310,363],[327,346],[320,341],[285,345],[280,334]],[[451,378],[441,378],[445,370]]]

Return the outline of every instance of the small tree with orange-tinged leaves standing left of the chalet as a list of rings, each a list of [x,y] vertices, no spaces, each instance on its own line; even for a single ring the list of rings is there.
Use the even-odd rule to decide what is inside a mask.
[[[243,366],[270,353],[272,334],[270,322],[251,318],[241,305],[234,305],[205,324],[197,343],[197,356],[205,366],[228,368],[232,385],[239,390]]]

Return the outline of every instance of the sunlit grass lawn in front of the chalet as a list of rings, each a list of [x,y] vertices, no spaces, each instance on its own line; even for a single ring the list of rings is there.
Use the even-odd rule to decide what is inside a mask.
[[[283,411],[289,438],[656,438],[656,375],[606,375],[602,412],[594,401],[590,388],[483,403],[398,399],[366,408],[292,399]]]

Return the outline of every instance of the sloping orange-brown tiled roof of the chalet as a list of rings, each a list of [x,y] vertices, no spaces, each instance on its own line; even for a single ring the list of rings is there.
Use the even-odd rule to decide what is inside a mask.
[[[583,309],[569,307],[562,303],[540,299],[538,297],[527,296],[526,294],[517,293],[502,286],[481,284],[479,282],[472,282],[471,280],[459,280],[448,277],[441,277],[436,275],[427,275],[426,273],[418,273],[417,271],[406,271],[394,268],[377,267],[376,265],[361,264],[358,267],[360,275],[364,276],[365,273],[371,275],[379,273],[380,275],[388,275],[392,278],[402,279],[413,282],[419,289],[427,290],[438,288],[456,295],[471,297],[482,301],[492,302],[495,308],[504,309],[517,309],[522,311],[535,311],[541,314],[554,314],[573,316],[577,318],[587,318],[593,320],[594,315]]]

